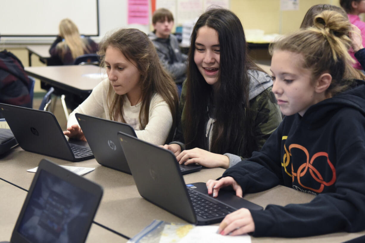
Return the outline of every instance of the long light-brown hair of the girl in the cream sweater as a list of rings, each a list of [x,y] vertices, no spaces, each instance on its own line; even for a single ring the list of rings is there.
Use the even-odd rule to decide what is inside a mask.
[[[160,59],[153,43],[148,36],[137,29],[120,29],[100,43],[98,54],[102,57],[101,66],[105,66],[105,51],[108,46],[118,48],[128,60],[133,60],[141,73],[142,101],[139,111],[139,123],[144,129],[148,123],[150,102],[155,93],[158,93],[168,103],[173,118],[173,127],[176,122],[177,89],[172,77],[161,66]],[[110,93],[115,93],[109,84]],[[110,118],[123,118],[124,95],[114,94],[110,105]],[[170,134],[171,136],[171,134]]]

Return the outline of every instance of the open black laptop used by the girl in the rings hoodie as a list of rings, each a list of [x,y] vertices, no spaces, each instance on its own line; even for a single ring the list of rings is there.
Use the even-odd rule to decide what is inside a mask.
[[[174,154],[127,134],[118,133],[139,194],[153,204],[198,224],[213,224],[239,208],[262,210],[257,204],[220,190],[213,198],[205,183],[184,184]]]

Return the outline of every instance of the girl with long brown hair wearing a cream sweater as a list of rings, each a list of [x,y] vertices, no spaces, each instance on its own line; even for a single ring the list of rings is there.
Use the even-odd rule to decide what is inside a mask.
[[[162,145],[172,138],[177,107],[176,86],[161,66],[146,34],[121,29],[100,44],[108,78],[71,114],[65,135],[85,140],[75,113],[131,125],[139,139]]]

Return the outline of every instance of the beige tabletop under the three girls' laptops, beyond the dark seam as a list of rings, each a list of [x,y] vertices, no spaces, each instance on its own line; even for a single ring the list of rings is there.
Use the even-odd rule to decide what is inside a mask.
[[[123,172],[99,165],[95,159],[82,162],[69,162],[15,148],[10,153],[0,157],[0,178],[28,189],[34,173],[27,169],[34,168],[42,158],[47,158],[59,165],[95,167],[84,177],[100,184],[104,188],[103,199],[95,216],[95,222],[111,228],[128,237],[132,237],[148,226],[154,219],[174,223],[186,223],[184,220],[155,206],[143,199],[135,186],[133,177]],[[205,182],[222,175],[224,169],[203,169],[200,172],[184,176],[185,183]],[[20,189],[19,189],[20,190]],[[21,190],[20,190],[21,191]],[[25,197],[25,196],[24,196]],[[313,199],[313,195],[295,191],[294,189],[277,186],[270,190],[245,195],[245,199],[257,203],[262,207],[270,204],[286,205],[289,203],[306,203]],[[3,200],[10,200],[5,197]],[[3,201],[0,200],[0,201]],[[24,200],[24,199],[23,199]],[[93,227],[97,225],[93,224]],[[306,238],[252,238],[252,242],[344,242],[364,235],[358,233],[335,233]]]

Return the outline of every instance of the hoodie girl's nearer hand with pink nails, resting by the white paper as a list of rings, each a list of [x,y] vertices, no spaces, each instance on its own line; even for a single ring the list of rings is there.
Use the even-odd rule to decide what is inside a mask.
[[[243,235],[254,231],[255,223],[247,208],[228,214],[218,228],[218,234],[221,235]]]

